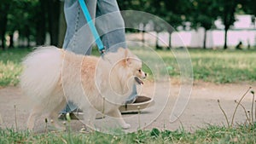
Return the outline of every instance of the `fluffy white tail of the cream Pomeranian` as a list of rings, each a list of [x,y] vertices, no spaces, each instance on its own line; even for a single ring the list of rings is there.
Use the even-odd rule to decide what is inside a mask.
[[[61,77],[61,49],[39,47],[23,60],[20,87],[33,101],[46,98]]]

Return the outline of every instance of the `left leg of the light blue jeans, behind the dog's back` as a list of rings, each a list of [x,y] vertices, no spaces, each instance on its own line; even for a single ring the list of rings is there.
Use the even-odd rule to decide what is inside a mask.
[[[87,0],[86,5],[92,18],[96,15],[96,1]],[[80,8],[78,0],[65,0],[64,13],[67,22],[67,31],[63,43],[63,49],[72,51],[80,55],[90,55],[93,37],[88,27],[87,21]],[[61,113],[73,112],[78,107],[73,102],[68,101],[67,106]]]

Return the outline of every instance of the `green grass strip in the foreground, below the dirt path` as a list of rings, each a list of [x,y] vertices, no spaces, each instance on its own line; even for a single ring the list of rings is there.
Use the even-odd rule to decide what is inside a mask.
[[[185,130],[138,130],[125,135],[107,135],[100,132],[47,132],[32,134],[28,131],[1,130],[0,143],[256,143],[256,124],[238,125],[236,128],[209,125],[205,129]]]

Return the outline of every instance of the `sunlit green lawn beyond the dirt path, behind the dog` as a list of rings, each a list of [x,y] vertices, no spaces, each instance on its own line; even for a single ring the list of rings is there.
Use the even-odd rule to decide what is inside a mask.
[[[31,49],[9,49],[0,51],[0,86],[17,85],[22,71],[20,61]],[[146,55],[143,50],[135,51],[147,59],[155,56]],[[93,50],[94,55],[98,55]],[[157,55],[165,61],[168,74],[179,78],[180,69],[177,59],[170,51],[157,51]],[[256,50],[203,50],[189,49],[195,80],[218,84],[255,82],[256,81]],[[150,67],[144,66],[144,71],[151,73]],[[166,70],[161,70],[166,71]]]

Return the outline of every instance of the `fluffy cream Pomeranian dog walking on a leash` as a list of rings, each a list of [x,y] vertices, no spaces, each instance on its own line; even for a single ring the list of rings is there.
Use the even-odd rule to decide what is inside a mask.
[[[117,118],[123,129],[129,129],[121,118],[119,106],[131,94],[137,78],[146,78],[142,61],[129,49],[95,56],[75,55],[55,47],[36,49],[23,61],[20,86],[33,102],[27,128],[33,129],[39,114],[47,114],[56,128],[58,113],[67,101],[73,101],[84,112],[84,123],[93,124],[96,113]]]

